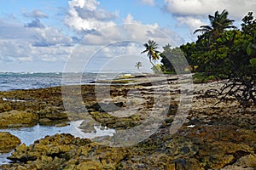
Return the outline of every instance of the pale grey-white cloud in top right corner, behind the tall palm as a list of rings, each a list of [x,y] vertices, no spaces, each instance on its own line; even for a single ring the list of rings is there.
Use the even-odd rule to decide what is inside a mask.
[[[230,19],[240,21],[249,11],[255,11],[254,0],[165,0],[164,10],[177,18],[179,25],[186,24],[191,31],[199,28],[208,14],[224,9],[230,12]]]

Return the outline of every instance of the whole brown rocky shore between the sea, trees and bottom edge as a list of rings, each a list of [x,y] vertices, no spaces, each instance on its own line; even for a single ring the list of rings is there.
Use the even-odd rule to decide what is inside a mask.
[[[0,151],[15,149],[9,156],[12,163],[0,169],[255,169],[255,106],[244,109],[235,99],[218,102],[214,95],[204,94],[206,89],[218,88],[217,82],[194,84],[192,94],[179,87],[176,77],[152,77],[148,82],[137,78],[110,86],[66,87],[65,91],[56,87],[0,92],[0,128],[38,123],[64,126],[84,119],[84,132],[91,132],[95,122],[122,131],[139,126],[148,117],[158,120],[150,115],[161,116],[166,111],[154,133],[128,146],[113,147],[68,133],[26,145],[9,133],[0,133]],[[63,99],[65,93],[69,97]],[[185,103],[191,108],[172,134],[182,94],[191,97],[191,103]],[[81,102],[77,100],[76,105],[73,99],[79,96]]]

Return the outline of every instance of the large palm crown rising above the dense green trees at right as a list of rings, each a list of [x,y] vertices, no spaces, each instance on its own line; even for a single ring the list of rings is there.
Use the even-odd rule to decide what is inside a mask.
[[[211,14],[208,15],[211,26],[200,26],[200,29],[194,31],[202,32],[202,37],[209,37],[217,39],[220,34],[224,32],[225,29],[235,28],[236,26],[232,26],[235,20],[228,19],[229,12],[227,10],[223,10],[221,14],[218,14],[218,11],[215,12],[214,16]]]

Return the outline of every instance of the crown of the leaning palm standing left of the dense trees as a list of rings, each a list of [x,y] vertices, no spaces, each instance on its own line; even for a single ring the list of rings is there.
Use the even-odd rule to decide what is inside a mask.
[[[144,43],[143,46],[146,48],[141,54],[148,52],[148,58],[149,62],[154,66],[155,68],[155,61],[159,59],[160,51],[156,50],[158,47],[158,44],[153,40],[148,40],[147,43]],[[154,61],[154,63],[152,62]]]

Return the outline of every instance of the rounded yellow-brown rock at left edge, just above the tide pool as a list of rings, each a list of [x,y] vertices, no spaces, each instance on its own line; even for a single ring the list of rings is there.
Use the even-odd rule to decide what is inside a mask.
[[[0,113],[0,127],[27,127],[38,123],[34,111],[5,111]]]

